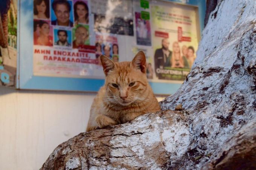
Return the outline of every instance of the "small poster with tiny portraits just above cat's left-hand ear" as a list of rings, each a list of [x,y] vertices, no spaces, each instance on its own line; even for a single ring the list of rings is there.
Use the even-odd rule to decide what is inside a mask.
[[[99,57],[101,54],[109,57],[114,62],[119,62],[119,46],[115,35],[96,33],[95,48],[98,65],[101,65]]]

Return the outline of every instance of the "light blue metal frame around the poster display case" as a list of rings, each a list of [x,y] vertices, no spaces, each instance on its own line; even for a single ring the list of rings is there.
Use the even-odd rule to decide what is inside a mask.
[[[182,3],[184,0],[168,0]],[[203,30],[206,10],[205,0],[186,0],[187,5],[198,7],[200,30]],[[104,84],[101,79],[41,77],[33,75],[33,1],[18,0],[17,88],[37,90],[72,90],[97,92]],[[150,82],[155,94],[173,94],[181,84]]]

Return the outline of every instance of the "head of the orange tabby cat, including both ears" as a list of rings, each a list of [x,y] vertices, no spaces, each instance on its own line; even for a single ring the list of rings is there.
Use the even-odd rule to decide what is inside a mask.
[[[108,102],[127,106],[145,100],[150,87],[146,77],[146,57],[142,51],[132,62],[114,63],[102,55],[101,63],[106,75]]]

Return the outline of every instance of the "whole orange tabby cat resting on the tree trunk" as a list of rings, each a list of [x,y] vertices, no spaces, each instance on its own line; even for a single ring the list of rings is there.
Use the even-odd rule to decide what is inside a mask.
[[[101,55],[105,85],[91,105],[87,132],[133,120],[160,110],[146,77],[146,57],[140,51],[132,62],[114,63]]]

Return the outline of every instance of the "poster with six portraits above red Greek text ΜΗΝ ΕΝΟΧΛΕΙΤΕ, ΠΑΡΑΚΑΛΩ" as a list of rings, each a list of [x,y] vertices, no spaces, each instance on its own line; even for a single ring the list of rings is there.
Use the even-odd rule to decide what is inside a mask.
[[[34,75],[104,77],[90,22],[86,0],[34,0]]]

